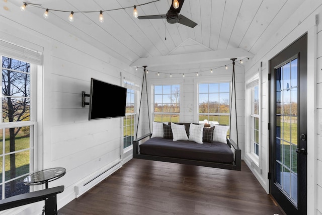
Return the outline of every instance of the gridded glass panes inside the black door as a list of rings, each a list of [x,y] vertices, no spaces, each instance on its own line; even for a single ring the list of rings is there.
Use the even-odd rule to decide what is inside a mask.
[[[275,183],[297,206],[297,58],[275,70]]]

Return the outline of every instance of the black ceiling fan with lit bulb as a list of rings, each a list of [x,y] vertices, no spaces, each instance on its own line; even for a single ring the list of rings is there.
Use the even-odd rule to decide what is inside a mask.
[[[137,18],[140,20],[146,20],[146,19],[167,19],[167,22],[170,24],[174,23],[180,23],[182,25],[194,28],[197,23],[194,21],[188,19],[187,17],[183,15],[179,15],[180,10],[182,8],[182,5],[185,0],[178,0],[179,2],[179,8],[175,9],[173,4],[171,4],[170,10],[167,14],[164,15],[150,15],[150,16],[138,16]],[[172,1],[173,2],[173,1]]]

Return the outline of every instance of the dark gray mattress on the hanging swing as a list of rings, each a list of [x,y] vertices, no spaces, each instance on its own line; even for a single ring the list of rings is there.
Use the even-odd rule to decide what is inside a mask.
[[[232,163],[233,153],[222,142],[173,141],[154,137],[140,145],[140,154],[217,163]]]

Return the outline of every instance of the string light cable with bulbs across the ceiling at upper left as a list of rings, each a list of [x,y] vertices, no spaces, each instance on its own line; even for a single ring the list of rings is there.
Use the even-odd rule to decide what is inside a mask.
[[[147,3],[143,3],[143,4],[139,4],[139,5],[134,5],[134,6],[129,6],[129,7],[124,7],[124,8],[115,8],[115,9],[98,10],[98,11],[71,11],[71,10],[70,11],[65,11],[65,10],[44,8],[42,5],[29,3],[29,2],[24,2],[23,5],[20,8],[21,8],[22,11],[26,11],[27,6],[32,6],[32,7],[35,7],[35,8],[40,8],[42,10],[45,10],[46,15],[44,14],[44,17],[46,19],[48,19],[50,11],[68,13],[68,14],[70,14],[69,15],[69,21],[71,21],[71,19],[73,19],[73,18],[70,18],[70,17],[72,17],[76,13],[98,13],[100,15],[99,21],[102,22],[102,20],[103,20],[103,12],[125,10],[125,9],[129,9],[129,8],[133,8],[133,12],[135,12],[135,13],[133,13],[133,16],[136,18],[137,17],[137,11],[136,11],[137,7],[141,7],[141,6],[148,5],[148,4],[151,4],[151,3],[155,3],[155,2],[158,2],[158,1],[160,1],[160,0],[154,0],[154,1],[151,1],[151,2],[147,2]]]

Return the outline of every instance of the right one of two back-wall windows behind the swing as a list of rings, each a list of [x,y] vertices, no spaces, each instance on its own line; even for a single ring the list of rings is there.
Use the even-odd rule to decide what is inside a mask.
[[[199,122],[229,125],[229,83],[199,84]]]

